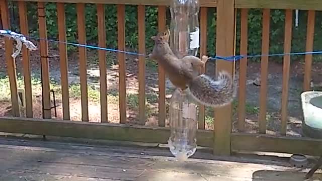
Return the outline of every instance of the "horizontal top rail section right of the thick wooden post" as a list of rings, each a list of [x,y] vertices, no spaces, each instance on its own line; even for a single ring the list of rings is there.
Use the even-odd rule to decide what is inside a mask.
[[[235,8],[322,10],[322,2],[318,0],[236,0]]]

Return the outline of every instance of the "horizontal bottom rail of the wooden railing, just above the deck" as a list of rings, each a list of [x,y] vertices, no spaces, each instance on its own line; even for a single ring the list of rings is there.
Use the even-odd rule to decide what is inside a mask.
[[[146,143],[167,143],[170,136],[170,129],[165,127],[13,117],[0,118],[0,132]],[[212,131],[198,130],[197,143],[199,146],[212,147]],[[321,149],[322,140],[318,139],[265,134],[231,134],[231,150],[234,152],[263,151],[317,156],[320,155]]]

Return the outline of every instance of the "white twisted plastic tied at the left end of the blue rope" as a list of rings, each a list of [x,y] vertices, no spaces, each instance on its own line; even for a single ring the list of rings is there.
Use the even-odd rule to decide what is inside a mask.
[[[16,40],[17,50],[11,55],[13,58],[16,58],[21,52],[22,44],[24,44],[29,50],[37,50],[37,47],[31,41],[27,40],[26,37],[22,34],[15,33],[10,30],[0,30],[0,35]]]

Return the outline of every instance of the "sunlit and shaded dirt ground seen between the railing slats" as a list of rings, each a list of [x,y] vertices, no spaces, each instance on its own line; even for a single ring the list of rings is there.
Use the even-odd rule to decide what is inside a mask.
[[[2,46],[0,48],[0,79],[6,78],[6,60],[4,43],[1,40]],[[108,119],[111,123],[119,122],[119,104],[118,104],[118,63],[117,55],[115,53],[107,52],[107,85],[108,93]],[[31,60],[31,70],[32,78],[40,80],[40,55],[39,50],[30,53]],[[99,93],[99,68],[98,68],[98,58],[97,51],[88,50],[88,84],[92,89],[96,89]],[[49,44],[49,70],[50,79],[52,82],[57,84],[56,91],[59,94],[59,84],[60,84],[60,67],[59,67],[59,52],[54,48],[53,44]],[[22,60],[21,56],[16,59],[17,73],[21,76],[23,75]],[[257,132],[258,130],[258,114],[259,114],[259,92],[260,86],[254,84],[256,79],[260,78],[260,63],[249,63],[247,69],[247,119],[246,127],[248,132]],[[77,52],[68,54],[68,78],[69,84],[79,83],[79,64]],[[282,68],[283,65],[279,63],[274,63],[270,61],[269,63],[269,76],[268,76],[268,95],[267,95],[267,133],[268,134],[278,134],[280,125],[280,105],[281,105],[281,94],[282,94]],[[312,78],[314,84],[320,84],[322,82],[322,63],[313,63],[312,65]],[[238,62],[236,62],[236,74],[235,81],[238,82]],[[303,70],[304,63],[303,60],[294,61],[291,63],[290,68],[290,81],[289,81],[289,122],[288,122],[288,135],[300,136],[301,134],[301,121],[302,121],[302,109],[300,102],[300,93],[302,91],[303,82]],[[207,73],[214,73],[214,62],[207,63]],[[138,93],[138,60],[136,56],[126,55],[126,91],[128,95],[136,95],[135,97],[128,97],[127,99],[127,117],[130,124],[136,124],[137,120],[137,93]],[[8,77],[7,77],[8,79]],[[145,70],[145,81],[146,81],[146,97],[147,97],[147,120],[146,125],[157,125],[157,67],[153,62],[146,62]],[[8,86],[8,85],[7,85]],[[167,93],[171,93],[173,89],[172,84],[169,80],[166,82]],[[21,85],[23,87],[23,85]],[[75,89],[75,88],[74,88]],[[73,91],[75,92],[75,90]],[[77,89],[77,88],[76,88]],[[79,89],[76,90],[79,92]],[[93,93],[94,94],[94,93]],[[97,94],[99,96],[99,94]],[[96,99],[99,100],[99,97]],[[95,97],[95,94],[94,96]],[[170,95],[167,96],[167,98]],[[10,96],[9,96],[10,98]],[[41,118],[41,85],[33,84],[33,105],[34,105],[34,117]],[[167,99],[168,101],[168,99]],[[236,100],[237,101],[237,100]],[[2,103],[0,105],[0,116],[11,116],[11,103],[8,99],[0,100]],[[61,99],[57,96],[57,119],[62,119],[62,107]],[[237,105],[237,103],[235,104]],[[79,121],[81,120],[81,101],[80,97],[75,94],[70,96],[70,115],[71,120]],[[54,111],[52,111],[54,113]],[[89,101],[89,116],[91,122],[99,122],[100,120],[100,103],[99,101],[94,101],[90,99]],[[206,129],[213,129],[212,126],[212,110],[207,109],[206,117]],[[54,114],[53,114],[54,116]],[[236,120],[236,113],[234,114],[234,124]],[[233,126],[234,127],[234,126]]]

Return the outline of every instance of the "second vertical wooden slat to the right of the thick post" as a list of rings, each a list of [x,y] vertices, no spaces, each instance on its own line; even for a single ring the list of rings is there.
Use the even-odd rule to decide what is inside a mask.
[[[262,54],[269,53],[270,47],[270,9],[263,10]],[[260,88],[260,115],[259,132],[266,133],[266,97],[267,97],[268,56],[261,60],[261,88]]]

